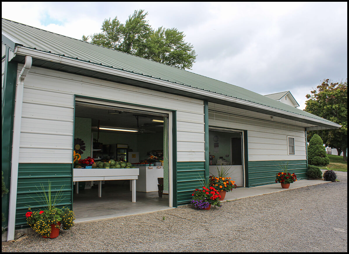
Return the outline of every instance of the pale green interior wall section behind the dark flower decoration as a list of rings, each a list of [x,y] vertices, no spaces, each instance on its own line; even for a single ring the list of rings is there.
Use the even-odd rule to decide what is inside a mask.
[[[91,118],[75,117],[74,124],[74,139],[81,138],[84,141],[85,150],[81,159],[86,159],[91,156]]]

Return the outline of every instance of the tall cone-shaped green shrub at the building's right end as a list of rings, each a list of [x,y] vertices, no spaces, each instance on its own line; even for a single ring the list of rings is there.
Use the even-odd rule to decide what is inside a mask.
[[[311,165],[327,166],[329,159],[326,154],[324,142],[318,134],[314,134],[308,146],[308,163]]]

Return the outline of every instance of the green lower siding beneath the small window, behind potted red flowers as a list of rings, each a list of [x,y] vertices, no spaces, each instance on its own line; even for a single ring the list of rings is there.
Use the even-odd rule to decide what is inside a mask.
[[[275,183],[276,173],[282,171],[280,165],[288,165],[290,173],[295,173],[297,179],[307,178],[306,160],[248,161],[248,187]]]

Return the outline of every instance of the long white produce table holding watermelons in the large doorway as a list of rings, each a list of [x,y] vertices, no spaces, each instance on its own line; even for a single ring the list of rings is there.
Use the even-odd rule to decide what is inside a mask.
[[[139,168],[73,168],[73,182],[99,181],[98,197],[102,197],[102,181],[130,180],[132,202],[136,202],[136,180]],[[75,183],[75,192],[79,193],[79,184]]]

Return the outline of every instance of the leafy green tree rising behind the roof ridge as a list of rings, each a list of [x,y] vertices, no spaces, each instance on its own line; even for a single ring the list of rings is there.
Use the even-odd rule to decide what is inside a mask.
[[[191,69],[196,55],[193,46],[184,41],[185,34],[175,28],[154,30],[146,21],[147,15],[144,10],[135,10],[125,24],[117,17],[105,19],[101,33],[83,35],[82,40],[179,69]]]

